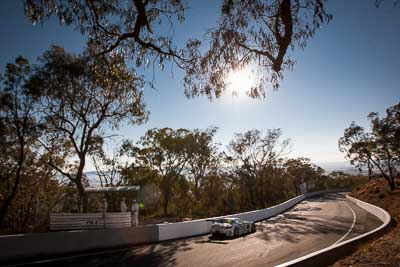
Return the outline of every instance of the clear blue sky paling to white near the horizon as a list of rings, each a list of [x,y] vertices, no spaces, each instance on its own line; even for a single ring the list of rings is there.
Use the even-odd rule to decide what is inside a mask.
[[[51,44],[82,50],[84,38],[72,27],[60,26],[56,19],[33,26],[24,17],[21,2],[1,3],[1,69],[18,55],[35,61]],[[316,163],[344,161],[337,141],[351,121],[367,125],[369,112],[382,113],[400,101],[400,6],[385,1],[376,8],[374,3],[329,1],[333,21],[304,50],[292,53],[297,61],[294,70],[285,73],[280,89],[266,99],[230,95],[212,102],[205,97],[186,99],[182,73],[174,71],[172,77],[167,70],[157,74],[156,90],[146,89],[148,123],[124,126],[118,134],[136,140],[153,127],[217,126],[217,140],[226,145],[236,132],[281,128],[293,142],[290,156],[309,157]],[[218,4],[210,0],[189,5],[187,21],[175,31],[178,44],[202,37],[215,25],[219,12]]]

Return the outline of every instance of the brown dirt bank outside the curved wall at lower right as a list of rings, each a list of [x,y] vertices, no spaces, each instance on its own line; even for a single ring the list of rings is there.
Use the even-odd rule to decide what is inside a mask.
[[[400,181],[397,180],[397,188]],[[395,226],[384,236],[360,245],[350,256],[333,266],[393,266],[400,267],[400,189],[390,191],[385,180],[376,180],[360,186],[351,196],[387,210]]]

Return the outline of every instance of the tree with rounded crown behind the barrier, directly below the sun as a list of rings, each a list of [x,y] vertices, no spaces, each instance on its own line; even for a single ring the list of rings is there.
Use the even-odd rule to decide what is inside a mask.
[[[232,170],[232,178],[239,186],[240,207],[262,208],[268,205],[270,181],[276,175],[278,159],[286,152],[290,140],[280,141],[281,130],[268,130],[265,135],[259,130],[236,134],[226,153]]]

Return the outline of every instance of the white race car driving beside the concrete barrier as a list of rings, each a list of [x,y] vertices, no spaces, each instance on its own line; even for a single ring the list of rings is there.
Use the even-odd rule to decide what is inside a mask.
[[[241,236],[256,231],[254,222],[243,221],[238,218],[220,218],[211,220],[211,235],[225,235],[229,237]]]

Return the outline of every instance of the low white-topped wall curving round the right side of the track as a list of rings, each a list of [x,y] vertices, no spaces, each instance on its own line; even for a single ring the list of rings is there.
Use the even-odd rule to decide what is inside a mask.
[[[355,248],[357,243],[362,239],[368,238],[374,234],[378,234],[379,232],[383,231],[390,223],[391,217],[390,214],[385,211],[384,209],[374,206],[372,204],[366,203],[359,199],[346,196],[347,200],[355,203],[360,208],[365,209],[369,213],[374,214],[377,218],[382,221],[382,225],[379,227],[354,237],[352,239],[343,241],[338,244],[334,244],[329,246],[325,249],[321,249],[305,255],[303,257],[297,258],[295,260],[283,263],[278,265],[278,267],[286,267],[286,266],[327,266],[335,262],[336,260],[342,258],[343,256],[347,255],[349,251]]]

